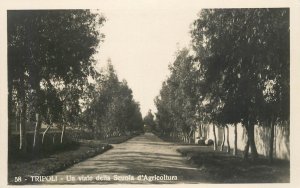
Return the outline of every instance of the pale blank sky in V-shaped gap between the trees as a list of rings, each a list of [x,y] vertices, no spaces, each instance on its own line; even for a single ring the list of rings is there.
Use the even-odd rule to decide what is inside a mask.
[[[154,98],[166,80],[175,52],[190,44],[190,26],[197,7],[127,7],[99,10],[107,19],[95,55],[98,66],[111,59],[119,79],[125,79],[145,116],[156,111]]]

